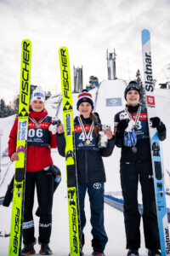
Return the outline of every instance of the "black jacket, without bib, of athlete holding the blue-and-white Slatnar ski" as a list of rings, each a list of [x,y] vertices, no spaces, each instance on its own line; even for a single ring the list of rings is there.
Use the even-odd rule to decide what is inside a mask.
[[[128,112],[137,113],[138,108],[139,106],[130,106],[128,107]],[[117,120],[117,115],[119,115],[119,113],[116,113],[115,120]],[[160,141],[165,140],[166,133],[166,127],[161,122],[161,130],[158,131]],[[137,140],[137,153],[133,153],[131,147],[126,147],[123,145],[123,135],[116,131],[116,147],[122,148],[121,162],[144,162],[151,160],[149,136]]]

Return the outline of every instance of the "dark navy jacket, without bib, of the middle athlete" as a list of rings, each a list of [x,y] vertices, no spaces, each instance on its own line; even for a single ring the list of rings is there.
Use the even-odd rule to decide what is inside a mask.
[[[91,125],[92,119],[83,119],[84,125]],[[79,125],[77,117],[74,120],[74,126]],[[93,135],[94,136],[94,135]],[[57,134],[57,143],[59,154],[65,156],[65,136]],[[107,157],[112,154],[115,147],[115,137],[108,141],[107,148],[78,149],[76,150],[77,158],[77,177],[79,183],[105,182],[105,167],[102,156]]]

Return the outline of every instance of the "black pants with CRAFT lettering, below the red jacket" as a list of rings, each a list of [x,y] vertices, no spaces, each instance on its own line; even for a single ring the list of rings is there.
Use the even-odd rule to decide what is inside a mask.
[[[26,172],[26,190],[24,202],[24,243],[34,243],[33,205],[34,193],[37,186],[37,201],[40,209],[39,243],[48,243],[52,229],[52,206],[54,194],[54,176],[48,175],[44,170]]]

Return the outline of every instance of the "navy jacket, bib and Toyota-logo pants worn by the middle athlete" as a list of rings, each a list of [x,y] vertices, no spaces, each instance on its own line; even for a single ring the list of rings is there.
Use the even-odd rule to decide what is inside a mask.
[[[85,131],[90,131],[92,119],[84,119],[81,115],[82,124]],[[98,124],[101,129],[101,124]],[[104,227],[104,189],[105,189],[105,167],[102,156],[110,156],[115,146],[115,137],[108,142],[107,148],[98,148],[98,139],[94,137],[94,131],[90,137],[90,144],[85,143],[85,137],[82,133],[81,125],[78,118],[74,120],[75,132],[75,148],[77,158],[77,177],[78,177],[78,195],[81,216],[82,246],[84,244],[83,228],[86,224],[86,216],[84,211],[84,200],[86,191],[88,190],[90,208],[91,208],[91,224],[92,224],[92,247],[98,244],[105,249],[108,241]],[[57,142],[59,145],[59,154],[65,156],[65,137],[63,134],[57,134]]]

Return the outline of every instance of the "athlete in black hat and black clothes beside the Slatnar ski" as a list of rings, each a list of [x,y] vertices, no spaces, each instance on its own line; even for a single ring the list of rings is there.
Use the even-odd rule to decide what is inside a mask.
[[[127,236],[127,256],[139,255],[140,214],[138,210],[138,183],[141,184],[143,200],[144,241],[148,255],[161,255],[156,215],[156,199],[150,155],[150,138],[146,108],[139,106],[140,90],[131,81],[125,90],[126,108],[115,116],[116,146],[122,148],[121,184],[124,199],[124,222]],[[126,115],[127,119],[122,119]],[[129,121],[130,120],[130,121]],[[125,130],[133,122],[136,136],[128,137]],[[161,141],[166,138],[166,127],[161,120],[152,118]],[[132,123],[131,123],[132,124]],[[133,130],[134,131],[134,130]],[[128,133],[129,134],[129,133]],[[132,135],[132,132],[130,133]]]

